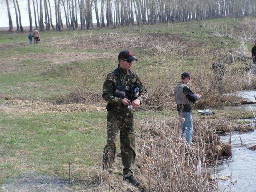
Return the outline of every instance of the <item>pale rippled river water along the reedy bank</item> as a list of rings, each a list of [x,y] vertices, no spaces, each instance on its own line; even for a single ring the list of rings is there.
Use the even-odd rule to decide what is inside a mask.
[[[255,102],[256,90],[246,91],[246,98]],[[256,104],[241,106],[220,107],[221,110],[254,111]],[[250,121],[255,128],[254,119]],[[222,142],[229,142],[230,133],[220,136]],[[218,180],[218,192],[256,192],[256,150],[249,150],[250,146],[256,145],[256,131],[232,132],[231,135],[232,156],[221,165],[216,166],[212,177],[222,178]]]

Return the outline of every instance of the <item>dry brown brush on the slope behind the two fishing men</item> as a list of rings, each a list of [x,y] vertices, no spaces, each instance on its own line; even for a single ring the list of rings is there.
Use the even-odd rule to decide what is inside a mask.
[[[206,44],[190,42],[174,34],[155,32],[138,34],[137,36],[131,36],[131,34],[124,32],[122,35],[120,32],[94,36],[77,36],[77,34],[74,34],[74,38],[66,40],[66,43],[70,46],[86,49],[118,48],[121,50],[128,46],[132,50],[138,50],[138,53],[134,54],[138,55],[140,53],[142,58],[139,59],[146,65],[143,65],[145,66],[144,69],[137,65],[133,69],[140,74],[148,89],[149,97],[146,104],[156,110],[175,108],[173,87],[180,81],[180,74],[184,70],[194,77],[194,80],[189,84],[190,88],[202,95],[202,99],[198,102],[196,108],[220,106],[224,102],[239,104],[240,101],[236,98],[236,91],[256,88],[256,76],[250,70],[252,67],[251,58],[248,57],[248,52],[242,49],[233,52],[235,62],[226,66],[222,90],[219,92],[219,86],[213,83],[216,74],[210,70],[213,62],[221,60],[223,52],[218,47],[208,50]],[[143,50],[148,54],[150,53],[151,56],[148,57],[148,54],[144,56]],[[186,65],[184,58],[177,58],[177,55],[183,55],[184,58],[194,57],[194,63],[184,69],[184,64]],[[106,65],[103,68],[93,66],[88,61],[82,72],[75,68],[71,71],[70,80],[80,98],[91,102],[102,102],[102,84],[98,84],[98,82],[104,81],[106,74],[116,67],[115,56],[109,54],[104,57],[113,59],[106,60]],[[189,61],[185,62],[191,63]],[[106,68],[106,66],[108,67]],[[104,75],[102,76],[102,74]],[[100,79],[100,81],[95,82],[95,79]],[[223,94],[229,94],[229,96]]]

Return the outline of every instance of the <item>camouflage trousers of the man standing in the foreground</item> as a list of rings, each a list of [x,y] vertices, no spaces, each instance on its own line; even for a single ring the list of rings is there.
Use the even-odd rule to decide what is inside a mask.
[[[116,156],[116,141],[120,132],[120,149],[122,155],[123,177],[134,174],[135,166],[135,129],[134,112],[118,113],[108,111],[108,142],[103,151],[103,169],[112,171]]]

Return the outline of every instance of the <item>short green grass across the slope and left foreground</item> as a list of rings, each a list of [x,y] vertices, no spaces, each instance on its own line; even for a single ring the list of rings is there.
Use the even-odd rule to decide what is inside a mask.
[[[195,63],[200,63],[205,54],[198,54],[195,57],[190,54],[184,58],[180,53],[182,42],[187,49],[194,53],[192,48],[194,43],[202,43],[207,49],[220,48],[224,52],[230,48],[237,48],[240,43],[231,37],[212,36],[215,32],[214,25],[221,28],[223,34],[230,34],[230,26],[234,26],[240,20],[225,18],[222,20],[207,20],[200,22],[159,24],[156,26],[132,26],[122,28],[93,29],[91,31],[65,32],[40,32],[42,42],[38,45],[20,46],[0,53],[0,94],[12,98],[23,98],[28,100],[50,100],[51,102],[72,102],[70,95],[74,93],[74,88],[70,81],[68,67],[76,71],[90,71],[96,73],[97,78],[90,81],[91,86],[100,87],[106,74],[114,68],[116,64],[116,53],[127,47],[132,47],[134,55],[138,55],[140,60],[134,65],[134,70],[139,71],[145,78],[148,86],[154,86],[153,82],[148,82],[152,73],[162,70],[178,63],[180,66],[175,72],[180,74],[180,70],[197,70]],[[212,24],[213,23],[213,24]],[[206,25],[207,27],[201,27]],[[228,26],[228,27],[227,27]],[[232,28],[236,30],[236,28]],[[92,45],[82,43],[81,36],[106,36],[118,38],[122,33],[127,37],[136,37],[135,42],[119,42],[118,46],[108,48],[110,41],[106,41],[107,48],[95,48]],[[219,31],[219,30],[218,30]],[[171,36],[181,38],[181,44],[174,46],[170,50],[155,45],[155,49],[150,47],[140,48],[137,46],[140,37],[145,33],[166,33]],[[118,35],[116,35],[118,34]],[[234,32],[235,34],[235,32]],[[233,34],[233,36],[235,36]],[[239,36],[239,31],[236,33]],[[70,36],[73,42],[69,42]],[[59,40],[64,39],[64,41]],[[91,38],[97,40],[98,38]],[[86,41],[90,38],[86,39]],[[61,43],[59,43],[61,41]],[[0,45],[12,47],[16,44],[28,44],[27,34],[0,34]],[[225,42],[225,44],[221,44]],[[93,42],[94,43],[94,42]],[[76,46],[78,45],[79,46]],[[191,46],[190,46],[191,45]],[[248,44],[248,50],[251,45]],[[159,51],[159,54],[155,53]],[[172,54],[166,54],[172,52]],[[174,54],[175,52],[175,54]],[[180,53],[180,54],[179,54]],[[82,55],[76,56],[77,54]],[[86,58],[91,55],[92,58]],[[93,57],[93,55],[100,55]],[[114,56],[111,59],[110,56]],[[161,63],[161,61],[170,63]],[[156,63],[157,62],[157,63]],[[156,65],[153,65],[153,64]],[[92,67],[85,68],[84,64]],[[149,64],[149,65],[148,65]],[[96,67],[95,67],[96,66]],[[172,79],[175,84],[179,76]],[[1,97],[0,102],[5,103]],[[168,112],[175,114],[175,112]],[[136,128],[139,130],[141,122],[145,117],[152,117],[158,114],[152,112],[137,112]],[[193,113],[196,115],[196,113]],[[5,191],[76,191],[83,190],[84,183],[90,181],[95,169],[100,168],[102,150],[106,140],[106,112],[74,112],[74,113],[19,113],[0,114],[0,187]],[[120,161],[118,159],[118,161]],[[71,179],[73,185],[66,185],[68,181],[68,163],[71,164]],[[120,162],[119,162],[120,163]],[[120,174],[120,173],[118,173]],[[48,183],[48,185],[47,185]],[[86,184],[88,185],[88,183]],[[17,189],[15,187],[19,186]],[[90,187],[87,187],[90,188]],[[93,188],[93,187],[91,187]],[[95,190],[97,191],[97,190]]]

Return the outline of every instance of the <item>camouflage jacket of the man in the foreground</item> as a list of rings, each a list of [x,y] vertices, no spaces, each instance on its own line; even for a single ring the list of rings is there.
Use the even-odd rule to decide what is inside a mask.
[[[138,97],[138,99],[140,100],[140,103],[146,100],[146,98],[148,97],[148,92],[145,86],[142,84],[142,81],[140,80],[140,77],[138,76],[138,74],[136,74],[135,72],[132,72],[131,70],[125,70],[123,68],[120,68],[119,65],[118,65],[118,72],[120,74],[121,84],[125,86],[127,89],[126,98],[131,101],[130,75],[132,74],[133,85],[135,85],[135,87],[140,88],[140,96]],[[118,110],[119,112],[130,112],[127,108],[128,106],[124,106],[122,104],[121,98],[113,96],[117,86],[118,86],[118,78],[115,76],[114,71],[112,71],[110,74],[108,74],[103,84],[102,97],[108,103],[106,106],[106,109]]]

